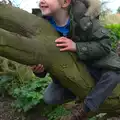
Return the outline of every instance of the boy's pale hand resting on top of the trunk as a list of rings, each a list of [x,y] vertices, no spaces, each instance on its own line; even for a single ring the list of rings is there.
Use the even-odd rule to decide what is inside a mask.
[[[60,37],[55,40],[56,46],[60,47],[60,51],[76,51],[76,43],[73,42],[71,39],[68,39],[66,37]]]

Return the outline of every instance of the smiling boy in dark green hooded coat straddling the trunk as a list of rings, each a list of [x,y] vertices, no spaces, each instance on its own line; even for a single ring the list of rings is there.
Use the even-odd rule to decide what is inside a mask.
[[[43,17],[63,36],[55,40],[56,46],[61,52],[75,52],[96,80],[95,88],[85,98],[83,105],[76,105],[69,116],[69,120],[85,120],[88,112],[96,111],[120,81],[117,72],[106,68],[104,63],[99,64],[102,58],[111,53],[108,32],[99,25],[98,20],[85,15],[87,8],[80,0],[75,0],[72,5],[71,0],[40,0],[39,5]],[[32,69],[39,77],[45,77],[47,73],[41,64]],[[59,81],[53,77],[52,79],[53,82],[44,93],[46,103],[62,104],[76,98]]]

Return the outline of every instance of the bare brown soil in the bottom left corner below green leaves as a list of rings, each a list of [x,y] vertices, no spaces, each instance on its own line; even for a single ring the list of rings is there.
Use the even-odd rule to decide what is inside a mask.
[[[0,96],[0,120],[47,120],[41,117],[38,113],[32,114],[19,113],[12,107],[13,99],[10,97]]]

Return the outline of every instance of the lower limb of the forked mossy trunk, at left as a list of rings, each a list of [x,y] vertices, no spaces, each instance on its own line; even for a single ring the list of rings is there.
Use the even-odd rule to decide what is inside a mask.
[[[8,32],[0,28],[0,55],[26,65],[42,62],[37,59],[38,51],[44,50],[42,42]],[[44,51],[43,51],[44,54]],[[43,54],[39,55],[42,56]],[[23,57],[24,56],[24,57]]]

